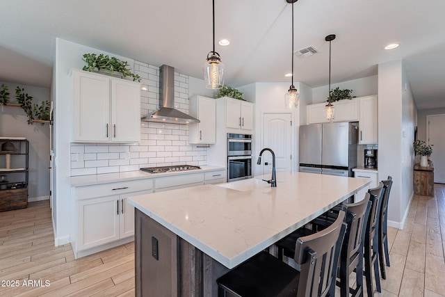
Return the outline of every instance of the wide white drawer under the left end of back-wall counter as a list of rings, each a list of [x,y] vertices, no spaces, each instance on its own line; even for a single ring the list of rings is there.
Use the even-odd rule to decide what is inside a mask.
[[[119,195],[136,191],[146,191],[153,188],[152,179],[138,179],[127,182],[113,182],[109,184],[98,184],[95,186],[79,186],[77,199],[103,197],[108,195]]]

